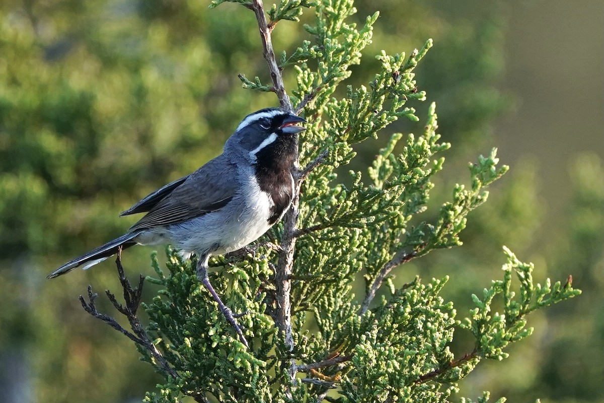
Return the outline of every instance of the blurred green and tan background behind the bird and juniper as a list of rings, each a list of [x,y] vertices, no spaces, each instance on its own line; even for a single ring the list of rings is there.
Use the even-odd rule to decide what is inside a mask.
[[[471,214],[463,247],[406,266],[396,281],[449,274],[445,297],[461,317],[472,292],[501,278],[505,244],[535,262],[539,281],[572,274],[583,289],[532,315],[535,334],[503,363],[481,364],[460,396],[604,402],[604,4],[356,4],[358,21],[382,16],[352,84],[370,80],[381,49],[435,41],[417,79],[453,147],[433,205],[467,181],[468,161],[490,147],[512,167]],[[299,25],[281,22],[275,47],[291,50],[303,37]],[[118,219],[120,211],[219,153],[245,114],[276,104],[241,89],[237,73],[268,79],[255,19],[243,7],[0,3],[0,402],[140,401],[158,382],[132,343],[77,300],[89,283],[118,290],[111,262],[53,281],[45,275],[123,233],[136,218]],[[284,74],[291,85],[292,71]],[[355,168],[380,144],[359,149]],[[124,255],[132,276],[152,273],[150,251]],[[153,291],[147,286],[147,298]],[[471,349],[458,336],[454,350]]]

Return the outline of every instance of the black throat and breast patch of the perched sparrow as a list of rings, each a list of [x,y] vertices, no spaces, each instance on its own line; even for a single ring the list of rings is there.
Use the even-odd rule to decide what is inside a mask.
[[[271,196],[273,205],[268,223],[279,221],[294,196],[292,166],[298,153],[298,137],[278,134],[277,140],[256,153],[255,175],[260,189]]]

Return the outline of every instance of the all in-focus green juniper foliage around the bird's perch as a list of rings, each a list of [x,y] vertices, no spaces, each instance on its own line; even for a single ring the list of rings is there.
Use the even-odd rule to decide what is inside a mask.
[[[284,3],[270,16],[295,21],[302,6],[309,4]],[[301,166],[307,168],[291,279],[293,350],[275,326],[277,289],[272,279],[278,253],[271,245],[281,242],[284,228],[271,231],[253,254],[212,262],[218,268],[211,275],[214,287],[231,309],[245,312],[239,320],[252,341],[249,350],[196,279],[195,259],[168,250],[169,274],[153,259],[158,277],[148,280],[161,289],[146,306],[147,331],[179,378],[166,376],[158,393],[147,393],[147,401],[175,402],[186,395],[219,402],[444,402],[481,359],[506,358],[509,343],[530,335],[526,314],[579,294],[570,282],[535,285],[533,266],[519,262],[507,249],[503,281],[493,281],[482,300],[474,295],[477,308],[461,321],[455,319],[453,303],[440,297],[449,277],[427,284],[416,277],[400,288],[393,286],[388,276],[400,263],[461,245],[467,214],[486,201],[486,188],[507,167],[497,166],[495,149],[480,156],[469,166],[469,189],[456,185],[435,221],[420,221],[428,211],[431,178],[443,168],[444,158],[435,155],[449,148],[439,143],[433,103],[422,135],[407,135],[399,152],[397,143],[404,136],[390,136],[368,168],[368,184],[353,170],[350,185],[339,181],[336,169],[353,160],[354,144],[377,137],[400,117],[419,120],[406,104],[426,98],[413,71],[432,42],[409,57],[382,52],[379,71],[368,86],[349,85],[338,98],[336,88],[370,43],[377,13],[357,30],[345,22],[356,11],[352,1],[325,0],[315,7],[315,25],[305,27],[315,45],[303,42],[289,59],[281,57],[283,67],[295,66],[292,100],[309,120],[301,144]],[[240,78],[245,88],[269,91],[258,77],[253,82]],[[353,284],[362,271],[367,296],[361,303]],[[519,298],[512,291],[512,272],[519,280]],[[384,281],[390,294],[371,308]],[[498,296],[504,313],[492,314]],[[470,330],[475,338],[474,349],[460,358],[451,351],[456,329]],[[163,371],[153,355],[141,353]],[[306,378],[295,373],[306,373]],[[487,398],[485,394],[479,401]]]

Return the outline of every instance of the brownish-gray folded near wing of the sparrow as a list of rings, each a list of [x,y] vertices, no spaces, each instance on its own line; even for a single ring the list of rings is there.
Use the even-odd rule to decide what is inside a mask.
[[[173,185],[173,189],[165,190],[164,197],[140,221],[132,225],[130,231],[178,224],[200,217],[224,207],[237,192],[236,167],[223,155],[217,156],[183,179],[181,184],[175,185],[172,182],[164,186]],[[153,195],[154,193],[147,196],[149,201],[153,199]],[[138,204],[144,205],[144,200]],[[132,208],[134,207],[136,205]],[[138,210],[142,211],[140,208]]]

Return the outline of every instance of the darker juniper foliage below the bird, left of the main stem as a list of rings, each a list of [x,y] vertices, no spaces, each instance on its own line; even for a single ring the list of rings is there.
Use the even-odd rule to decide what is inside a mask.
[[[151,320],[149,331],[156,335],[157,347],[181,375],[172,381],[178,382],[178,388],[185,395],[214,393],[227,396],[226,401],[234,401],[236,396],[230,389],[239,385],[239,398],[255,396],[257,400],[251,401],[268,401],[267,378],[260,375],[269,361],[272,347],[269,340],[275,329],[271,318],[263,314],[266,307],[259,295],[262,283],[252,280],[266,276],[269,270],[266,260],[250,259],[252,267],[246,267],[246,271],[232,265],[228,270],[233,283],[231,302],[237,301],[233,303],[238,309],[243,305],[242,309],[250,312],[240,323],[245,326],[246,334],[260,341],[260,347],[252,354],[242,343],[231,339],[230,325],[224,323],[222,314],[208,309],[213,307],[213,299],[196,277],[196,262],[185,262],[178,252],[171,250],[169,257],[167,277],[159,269],[157,260],[153,260],[159,278],[152,282],[164,288],[147,307],[147,313]],[[221,292],[231,288],[225,274],[222,272],[213,279],[214,286]],[[144,354],[144,358],[153,364],[150,355]]]

